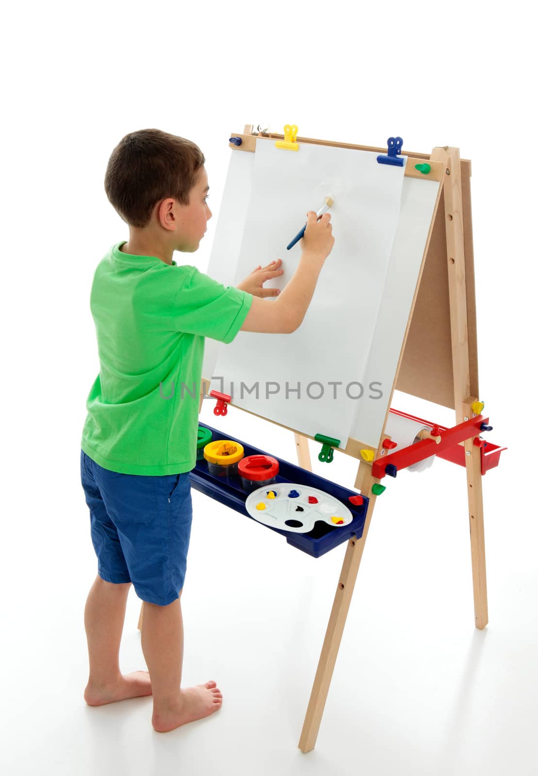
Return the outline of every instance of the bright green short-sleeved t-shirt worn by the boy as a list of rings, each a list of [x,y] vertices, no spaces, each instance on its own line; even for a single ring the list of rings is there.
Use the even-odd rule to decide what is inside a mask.
[[[231,342],[252,294],[196,267],[120,251],[95,270],[90,307],[99,375],[82,449],[123,474],[177,474],[196,466],[204,337]]]

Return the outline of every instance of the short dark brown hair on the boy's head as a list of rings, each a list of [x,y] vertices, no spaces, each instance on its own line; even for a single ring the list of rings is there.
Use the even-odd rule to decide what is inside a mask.
[[[189,193],[205,161],[196,143],[185,137],[161,130],[130,132],[110,155],[106,196],[131,227],[145,227],[159,200],[173,197],[189,204]]]

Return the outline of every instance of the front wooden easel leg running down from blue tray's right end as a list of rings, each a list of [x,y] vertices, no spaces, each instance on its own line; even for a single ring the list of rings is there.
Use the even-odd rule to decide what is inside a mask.
[[[321,648],[318,670],[314,678],[314,686],[312,687],[303,730],[298,744],[299,749],[305,753],[313,750],[316,745],[321,715],[325,708],[328,688],[331,684],[332,672],[335,668],[336,656],[338,655],[338,649],[342,640],[342,633],[359,571],[360,560],[363,557],[366,535],[368,534],[370,519],[372,518],[373,507],[376,501],[371,487],[377,480],[373,480],[371,472],[371,466],[366,466],[363,463],[360,464],[355,487],[362,490],[363,494],[370,498],[370,504],[366,513],[362,537],[360,539],[350,539],[345,551],[344,563],[342,564],[342,571],[338,580],[338,587],[336,588],[335,601],[332,605],[331,616],[329,617],[327,631],[325,632],[325,641]]]

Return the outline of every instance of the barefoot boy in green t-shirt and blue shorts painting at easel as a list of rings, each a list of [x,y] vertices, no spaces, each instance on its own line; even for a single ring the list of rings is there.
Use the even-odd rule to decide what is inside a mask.
[[[174,251],[193,253],[207,230],[207,174],[190,140],[140,130],[120,141],[106,169],[110,203],[129,241],[95,270],[90,307],[99,376],[86,403],[81,479],[90,510],[98,576],[85,606],[89,681],[85,701],[102,705],[153,695],[155,730],[217,711],[214,681],[181,688],[180,597],[192,519],[189,471],[196,465],[204,337],[231,342],[238,331],[290,333],[301,324],[331,252],[331,216],[307,213],[297,272],[281,293],[264,289],[281,260],[259,265],[237,287],[222,286]],[[272,303],[265,297],[278,296]],[[144,601],[146,671],[120,673],[130,584]]]

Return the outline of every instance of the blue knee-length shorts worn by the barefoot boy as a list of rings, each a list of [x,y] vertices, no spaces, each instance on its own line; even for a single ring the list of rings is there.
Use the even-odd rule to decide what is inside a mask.
[[[187,567],[193,508],[189,473],[120,474],[81,450],[97,573],[132,582],[138,598],[166,606],[179,598]]]

